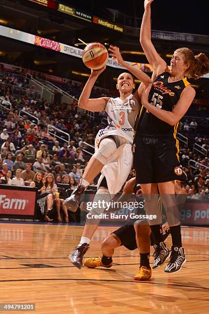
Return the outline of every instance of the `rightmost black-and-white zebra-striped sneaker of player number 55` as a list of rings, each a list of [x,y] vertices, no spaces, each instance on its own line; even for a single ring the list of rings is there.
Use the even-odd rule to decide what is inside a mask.
[[[181,270],[181,266],[186,262],[183,247],[171,247],[171,259],[169,264],[165,267],[165,272],[177,272]]]

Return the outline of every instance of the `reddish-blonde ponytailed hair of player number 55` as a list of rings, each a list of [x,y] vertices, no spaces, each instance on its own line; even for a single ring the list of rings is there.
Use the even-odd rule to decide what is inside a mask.
[[[179,48],[175,52],[180,52],[183,54],[183,59],[185,63],[189,63],[190,67],[185,71],[187,77],[197,78],[209,72],[209,59],[204,53],[199,53],[194,55],[194,52],[189,48]]]

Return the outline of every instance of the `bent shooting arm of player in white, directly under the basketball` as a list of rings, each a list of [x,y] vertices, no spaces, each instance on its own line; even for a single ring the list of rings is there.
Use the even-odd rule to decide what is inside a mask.
[[[96,99],[89,99],[92,88],[98,78],[98,76],[106,69],[106,66],[99,70],[91,70],[91,75],[87,81],[85,87],[80,94],[78,100],[78,107],[89,111],[103,111],[106,108],[107,102],[110,97],[100,97]]]

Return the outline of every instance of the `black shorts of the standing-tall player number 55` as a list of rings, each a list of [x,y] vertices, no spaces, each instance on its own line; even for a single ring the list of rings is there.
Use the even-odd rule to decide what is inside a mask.
[[[179,143],[174,138],[137,136],[134,139],[136,182],[145,184],[186,180],[178,153]]]

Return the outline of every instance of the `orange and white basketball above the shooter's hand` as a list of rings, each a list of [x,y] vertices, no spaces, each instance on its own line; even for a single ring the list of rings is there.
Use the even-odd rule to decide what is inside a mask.
[[[90,43],[82,52],[82,61],[88,68],[99,70],[108,62],[108,50],[100,43]]]

